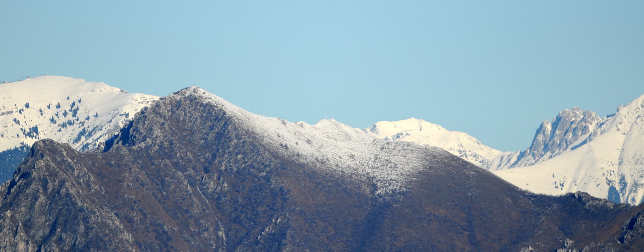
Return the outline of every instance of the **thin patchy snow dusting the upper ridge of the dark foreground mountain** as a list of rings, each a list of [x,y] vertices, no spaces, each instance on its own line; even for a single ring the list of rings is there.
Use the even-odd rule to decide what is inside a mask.
[[[261,134],[270,149],[292,156],[304,165],[325,167],[327,172],[350,179],[373,180],[378,195],[405,190],[415,172],[426,168],[428,159],[450,155],[436,147],[377,139],[335,120],[308,125],[259,116],[199,87],[189,87],[176,95],[196,95],[205,102],[220,105],[240,125]]]

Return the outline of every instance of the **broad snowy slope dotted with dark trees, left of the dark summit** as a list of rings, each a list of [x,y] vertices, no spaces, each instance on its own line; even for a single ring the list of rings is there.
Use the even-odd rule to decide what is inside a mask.
[[[64,76],[0,84],[0,151],[43,138],[92,149],[157,99]]]

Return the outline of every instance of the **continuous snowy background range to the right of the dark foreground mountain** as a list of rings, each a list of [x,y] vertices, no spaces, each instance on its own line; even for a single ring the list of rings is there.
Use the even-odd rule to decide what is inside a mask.
[[[365,132],[441,147],[531,192],[583,191],[616,203],[644,201],[644,96],[604,118],[566,109],[544,120],[522,151],[491,149],[464,132],[413,118],[375,123]]]

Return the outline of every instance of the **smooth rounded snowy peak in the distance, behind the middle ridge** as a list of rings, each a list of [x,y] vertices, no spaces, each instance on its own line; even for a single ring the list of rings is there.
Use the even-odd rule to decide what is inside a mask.
[[[479,167],[488,167],[491,159],[502,152],[492,149],[465,132],[409,118],[398,122],[377,122],[364,131],[384,140],[403,140],[426,146],[440,147]]]

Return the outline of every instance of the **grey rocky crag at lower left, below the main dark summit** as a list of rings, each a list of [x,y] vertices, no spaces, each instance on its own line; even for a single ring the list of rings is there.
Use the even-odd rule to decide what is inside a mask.
[[[3,217],[24,230],[35,249],[130,248],[131,237],[115,212],[95,195],[104,194],[97,178],[70,145],[37,141],[26,163],[3,188]],[[3,219],[3,224],[8,220]],[[3,226],[3,230],[15,229]],[[17,238],[23,235],[15,235]],[[4,236],[3,236],[4,237]],[[37,242],[34,244],[33,242]]]

